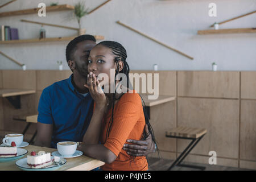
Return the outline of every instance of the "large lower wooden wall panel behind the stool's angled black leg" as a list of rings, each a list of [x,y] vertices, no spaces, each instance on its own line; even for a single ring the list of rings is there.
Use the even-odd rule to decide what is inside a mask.
[[[207,129],[191,154],[208,155],[209,151],[216,151],[217,156],[238,159],[239,104],[239,100],[178,98],[177,125]],[[189,141],[177,142],[181,152]]]

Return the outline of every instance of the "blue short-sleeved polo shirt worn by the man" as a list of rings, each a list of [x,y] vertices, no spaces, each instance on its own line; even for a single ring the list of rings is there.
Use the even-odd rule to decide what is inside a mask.
[[[93,99],[80,94],[68,79],[45,88],[39,100],[38,122],[53,124],[51,147],[57,142],[81,142],[93,114]]]

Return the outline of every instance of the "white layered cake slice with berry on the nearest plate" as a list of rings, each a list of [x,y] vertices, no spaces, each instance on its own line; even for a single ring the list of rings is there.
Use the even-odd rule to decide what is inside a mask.
[[[32,151],[30,155],[27,156],[27,165],[30,168],[44,168],[47,166],[51,166],[54,159],[51,159],[51,153],[45,151],[39,151],[36,154],[35,151]]]

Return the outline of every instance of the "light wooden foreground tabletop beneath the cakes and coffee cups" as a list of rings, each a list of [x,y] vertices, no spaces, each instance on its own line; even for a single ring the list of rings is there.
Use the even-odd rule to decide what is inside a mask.
[[[30,154],[31,151],[36,151],[36,152],[39,152],[41,150],[46,152],[57,151],[56,148],[46,148],[46,147],[31,146],[31,145],[28,145],[27,147],[23,147],[23,148],[26,149],[28,153],[20,159],[27,158],[27,155]],[[65,158],[65,159],[67,160],[67,163],[65,163],[62,167],[58,168],[56,171],[89,171],[97,167],[103,166],[105,164],[100,160],[92,159],[85,155],[81,155],[77,158]],[[18,166],[16,166],[15,162],[16,160],[11,162],[0,163],[0,171],[20,171],[21,169],[18,168]]]

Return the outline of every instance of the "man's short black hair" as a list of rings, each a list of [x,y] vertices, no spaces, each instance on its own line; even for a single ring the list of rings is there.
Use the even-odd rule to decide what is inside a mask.
[[[93,35],[80,35],[77,36],[75,39],[71,40],[71,42],[68,43],[68,46],[66,47],[66,59],[72,60],[73,54],[76,51],[77,44],[85,41],[85,40],[92,40],[93,42],[96,42],[96,39]]]

